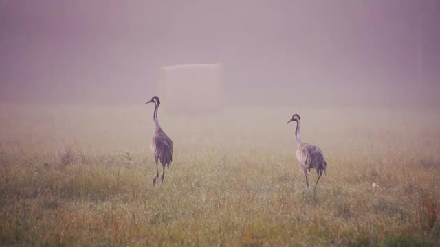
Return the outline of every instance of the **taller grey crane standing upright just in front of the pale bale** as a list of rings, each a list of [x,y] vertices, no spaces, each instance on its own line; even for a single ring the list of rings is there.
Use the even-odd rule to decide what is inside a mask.
[[[162,183],[164,183],[164,173],[165,173],[165,165],[167,166],[167,169],[169,171],[170,169],[170,163],[173,161],[173,141],[171,141],[170,137],[168,137],[164,130],[160,128],[159,121],[157,120],[157,109],[160,105],[159,97],[153,96],[150,101],[146,102],[148,103],[154,103],[154,114],[153,114],[153,121],[154,121],[154,133],[153,137],[151,137],[150,141],[150,150],[151,154],[153,154],[154,161],[156,163],[156,176],[153,179],[153,186],[156,184],[156,178],[159,177],[159,169],[157,168],[157,161],[160,160],[160,163],[162,164]]]

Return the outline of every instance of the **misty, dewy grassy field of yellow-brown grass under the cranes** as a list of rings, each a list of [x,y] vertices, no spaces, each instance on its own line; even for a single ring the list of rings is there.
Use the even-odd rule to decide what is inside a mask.
[[[0,109],[1,246],[440,244],[438,111],[159,110],[175,150],[153,187],[153,106]],[[293,113],[327,159],[316,193]]]

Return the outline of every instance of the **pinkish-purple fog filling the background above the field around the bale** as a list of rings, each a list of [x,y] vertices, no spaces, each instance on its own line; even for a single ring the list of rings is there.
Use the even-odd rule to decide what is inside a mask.
[[[228,106],[440,106],[440,2],[0,1],[1,102],[143,104],[221,63]]]

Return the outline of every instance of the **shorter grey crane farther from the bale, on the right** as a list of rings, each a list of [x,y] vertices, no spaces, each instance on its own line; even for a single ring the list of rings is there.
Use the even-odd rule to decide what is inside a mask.
[[[303,143],[303,140],[301,140],[300,115],[294,114],[292,116],[292,119],[290,119],[287,122],[287,124],[289,124],[291,121],[296,121],[295,139],[296,139],[296,144],[298,145],[298,148],[296,150],[296,159],[304,169],[305,184],[307,185],[307,187],[309,187],[309,178],[307,175],[307,169],[309,169],[310,172],[310,169],[314,168],[318,173],[318,180],[316,180],[316,184],[314,187],[314,189],[316,189],[316,185],[318,185],[318,181],[321,178],[322,172],[325,173],[325,168],[327,167],[327,163],[325,162],[324,159],[324,154],[322,154],[320,148],[314,145]]]

